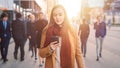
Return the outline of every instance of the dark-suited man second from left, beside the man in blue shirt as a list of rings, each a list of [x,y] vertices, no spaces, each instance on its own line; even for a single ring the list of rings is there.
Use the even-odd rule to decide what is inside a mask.
[[[17,60],[18,49],[20,47],[20,61],[24,61],[24,45],[25,45],[25,29],[24,23],[21,19],[22,15],[20,13],[16,13],[16,20],[12,22],[12,35],[15,42],[15,50],[14,50],[14,59]]]

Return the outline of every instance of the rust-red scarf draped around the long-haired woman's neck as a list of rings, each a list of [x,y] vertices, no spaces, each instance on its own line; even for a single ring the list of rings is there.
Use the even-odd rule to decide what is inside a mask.
[[[44,47],[50,44],[51,37],[53,35],[62,37],[61,52],[60,52],[61,68],[71,68],[72,65],[71,44],[68,35],[68,28],[64,26],[59,27],[56,24],[50,26],[46,33],[46,40]]]

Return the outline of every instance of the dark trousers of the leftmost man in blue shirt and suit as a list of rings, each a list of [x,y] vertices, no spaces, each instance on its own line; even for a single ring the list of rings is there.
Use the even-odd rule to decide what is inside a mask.
[[[1,43],[1,56],[2,56],[2,59],[4,59],[4,60],[7,59],[9,42],[10,42],[10,38],[8,38],[8,37],[4,37],[2,39],[2,43]]]

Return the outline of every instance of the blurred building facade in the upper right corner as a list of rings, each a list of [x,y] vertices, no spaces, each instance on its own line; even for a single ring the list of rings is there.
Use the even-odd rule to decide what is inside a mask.
[[[106,20],[112,24],[120,24],[120,0],[105,0],[104,12]]]

